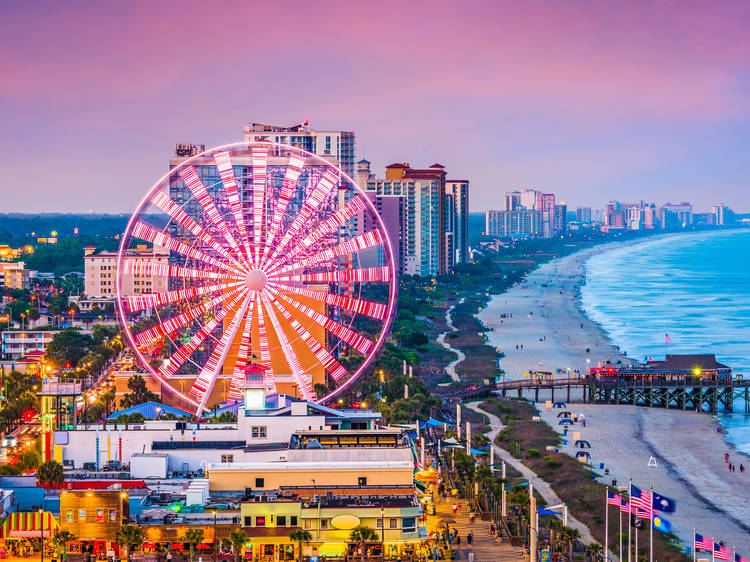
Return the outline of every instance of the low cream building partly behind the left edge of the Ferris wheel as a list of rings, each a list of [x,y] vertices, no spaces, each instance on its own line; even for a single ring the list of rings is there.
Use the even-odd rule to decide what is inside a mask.
[[[117,294],[117,253],[96,253],[96,247],[84,248],[84,292],[93,299],[112,298]],[[127,252],[123,258],[125,273],[122,277],[123,296],[140,293],[160,293],[167,290],[169,277],[166,275],[142,275],[130,273],[135,265],[168,265],[169,252],[163,248],[148,248],[139,245]]]

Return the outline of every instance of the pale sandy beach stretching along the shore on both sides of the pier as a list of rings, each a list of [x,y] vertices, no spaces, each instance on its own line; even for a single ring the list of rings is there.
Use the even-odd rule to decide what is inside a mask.
[[[608,246],[542,265],[523,283],[495,296],[479,314],[491,328],[489,342],[505,353],[500,365],[509,380],[530,370],[563,376],[568,369],[585,373],[600,361],[629,361],[579,308],[578,291],[586,275],[583,262]],[[618,485],[627,485],[631,477],[641,488],[653,485],[658,493],[677,501],[676,513],[665,517],[686,546],[692,546],[693,528],[697,528],[750,556],[750,470],[739,471],[741,463],[750,468],[750,457],[724,441],[715,418],[633,406],[576,404],[569,409],[586,416],[587,427],[576,424],[574,430],[591,443],[594,466],[603,463],[609,469],[602,483],[616,479]],[[553,410],[543,417],[562,432],[557,413]],[[570,437],[563,450],[574,455]],[[724,453],[730,453],[736,472],[728,470]],[[656,468],[648,466],[651,457]],[[611,515],[616,517],[614,511]],[[641,545],[646,547],[646,537]],[[613,541],[610,549],[615,548]]]

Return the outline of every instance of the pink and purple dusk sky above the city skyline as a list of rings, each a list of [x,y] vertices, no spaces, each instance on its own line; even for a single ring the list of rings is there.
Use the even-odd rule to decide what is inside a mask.
[[[0,212],[130,212],[176,142],[353,130],[506,191],[750,211],[750,3],[4,2]]]

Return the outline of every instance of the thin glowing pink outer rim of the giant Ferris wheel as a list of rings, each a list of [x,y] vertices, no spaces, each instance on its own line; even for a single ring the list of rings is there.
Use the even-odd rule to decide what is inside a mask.
[[[124,306],[125,297],[122,295],[123,274],[121,274],[124,255],[125,255],[125,252],[128,250],[128,248],[126,248],[125,246],[133,238],[133,226],[135,222],[137,221],[138,217],[140,217],[143,211],[153,202],[153,196],[161,188],[163,188],[164,182],[167,181],[170,177],[172,177],[175,174],[178,174],[181,169],[185,169],[189,166],[192,166],[194,162],[198,161],[202,157],[216,154],[221,151],[231,151],[233,149],[249,148],[252,146],[263,146],[263,147],[269,147],[269,148],[276,147],[282,150],[290,151],[292,153],[296,152],[301,155],[304,155],[305,158],[313,159],[314,161],[328,168],[335,170],[338,174],[340,174],[342,178],[348,181],[348,183],[352,186],[352,189],[355,191],[355,193],[359,195],[360,199],[362,199],[362,202],[365,204],[365,207],[369,211],[370,218],[374,219],[375,221],[376,229],[380,231],[383,237],[382,249],[386,252],[387,263],[388,263],[388,267],[387,267],[388,277],[386,280],[386,283],[388,284],[388,299],[387,299],[387,303],[382,303],[386,307],[386,312],[385,312],[384,318],[382,319],[382,325],[380,329],[378,330],[378,337],[375,338],[372,349],[370,349],[367,352],[364,360],[357,367],[357,369],[354,372],[350,373],[348,378],[346,378],[340,385],[334,388],[331,392],[324,394],[323,396],[315,396],[315,399],[312,401],[313,403],[322,404],[322,403],[328,402],[332,398],[335,398],[339,394],[349,389],[349,387],[354,382],[359,380],[359,378],[365,373],[365,371],[375,361],[377,355],[380,353],[380,350],[385,344],[385,340],[387,339],[387,336],[389,334],[389,331],[393,322],[393,316],[394,316],[394,312],[396,308],[396,299],[398,295],[398,277],[396,274],[396,264],[394,261],[392,241],[390,240],[390,237],[388,236],[388,231],[385,227],[383,219],[380,216],[380,213],[375,208],[373,202],[366,196],[365,191],[359,187],[357,182],[354,181],[354,179],[351,176],[349,176],[346,172],[344,172],[340,168],[339,165],[333,164],[330,161],[326,160],[325,158],[321,157],[320,155],[314,154],[307,150],[304,150],[295,146],[291,146],[288,144],[284,144],[284,143],[273,142],[273,141],[240,141],[240,142],[228,143],[228,144],[204,149],[203,151],[191,156],[190,158],[185,159],[183,162],[180,162],[177,166],[175,166],[174,168],[171,168],[166,173],[164,173],[148,189],[148,191],[141,198],[139,204],[136,206],[135,210],[131,214],[127,222],[127,225],[125,227],[125,230],[123,232],[122,238],[120,240],[120,245],[117,251],[116,270],[115,270],[116,271],[115,294],[116,294],[116,301],[117,301],[116,302],[117,313],[120,318],[120,322],[123,327],[123,330],[125,331],[125,335],[128,340],[128,343],[130,344],[131,348],[136,354],[136,357],[139,359],[141,366],[145,368],[145,370],[151,376],[155,377],[159,381],[159,383],[162,385],[162,387],[166,387],[169,391],[171,391],[172,393],[180,397],[180,399],[196,407],[198,410],[201,409],[201,405],[197,401],[191,398],[188,393],[183,393],[177,390],[170,383],[169,379],[166,376],[163,376],[162,374],[158,372],[157,369],[154,369],[153,367],[151,367],[148,359],[143,355],[143,353],[139,349],[139,346],[135,341],[134,335],[131,332],[130,327],[128,326],[128,316],[127,316],[127,312]],[[267,189],[267,186],[264,189]],[[225,397],[225,401],[229,401],[229,397]],[[202,412],[198,411],[197,415],[200,415],[201,413]]]

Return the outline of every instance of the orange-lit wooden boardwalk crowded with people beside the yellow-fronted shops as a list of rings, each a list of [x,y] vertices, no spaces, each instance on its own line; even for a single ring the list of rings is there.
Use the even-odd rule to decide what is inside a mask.
[[[461,508],[456,515],[453,515],[454,501],[461,504]],[[457,529],[458,535],[461,537],[461,547],[459,548],[455,543],[452,545],[456,549],[457,560],[468,559],[469,545],[466,537],[469,531],[473,534],[471,550],[474,552],[474,562],[517,561],[526,558],[521,548],[511,546],[509,542],[497,542],[495,537],[489,533],[489,522],[481,521],[477,517],[474,523],[471,523],[467,500],[449,497],[447,501],[442,501],[442,498],[440,498],[435,507],[437,515],[427,516],[428,531],[443,531],[445,523],[448,523],[451,531],[454,528]],[[429,560],[432,560],[432,557]]]

